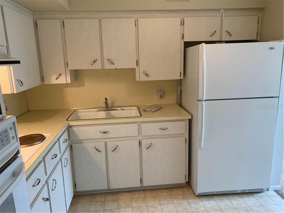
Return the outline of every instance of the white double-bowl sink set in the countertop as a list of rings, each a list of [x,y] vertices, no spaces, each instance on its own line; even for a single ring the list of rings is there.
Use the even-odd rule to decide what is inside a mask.
[[[77,109],[67,120],[89,120],[103,118],[121,118],[121,117],[140,117],[141,113],[138,106],[114,107],[115,111],[99,111],[99,109]],[[112,109],[112,108],[110,108]]]

